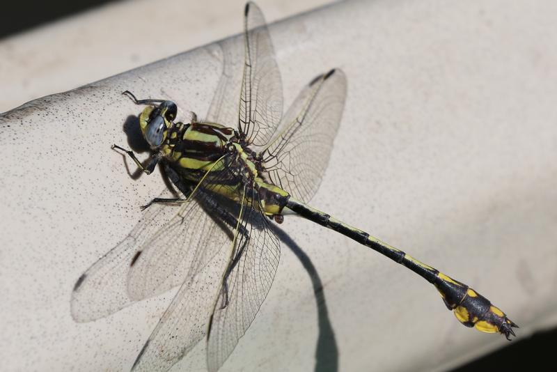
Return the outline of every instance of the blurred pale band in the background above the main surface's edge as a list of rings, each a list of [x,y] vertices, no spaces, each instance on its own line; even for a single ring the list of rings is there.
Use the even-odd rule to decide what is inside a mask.
[[[240,32],[244,0],[127,0],[0,39],[0,112]],[[267,21],[329,3],[260,0]]]

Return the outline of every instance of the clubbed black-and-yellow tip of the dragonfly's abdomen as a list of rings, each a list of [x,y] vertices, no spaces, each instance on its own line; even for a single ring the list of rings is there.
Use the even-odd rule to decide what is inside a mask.
[[[466,327],[485,333],[501,333],[508,340],[511,335],[516,336],[512,328],[518,328],[518,325],[476,290],[442,273],[438,274],[435,286],[446,307],[453,310],[457,320]]]

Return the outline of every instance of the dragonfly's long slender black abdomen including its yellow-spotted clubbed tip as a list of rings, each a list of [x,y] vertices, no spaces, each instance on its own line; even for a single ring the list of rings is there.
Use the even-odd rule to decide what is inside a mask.
[[[354,228],[327,213],[316,210],[295,199],[289,199],[286,208],[296,212],[301,217],[309,219],[321,226],[331,228],[366,247],[370,247],[380,254],[391,258],[396,263],[405,265],[416,274],[429,281],[439,290],[441,297],[449,310],[453,310],[460,323],[466,327],[475,327],[485,333],[501,333],[510,340],[510,335],[516,336],[512,330],[518,328],[512,320],[498,307],[492,305],[487,298],[480,295],[466,284],[461,283],[430,265],[421,263],[400,249],[382,242],[359,228]]]

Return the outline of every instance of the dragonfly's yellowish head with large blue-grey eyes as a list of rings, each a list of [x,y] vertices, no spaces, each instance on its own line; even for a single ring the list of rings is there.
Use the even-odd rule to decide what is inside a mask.
[[[166,139],[168,127],[176,118],[176,104],[172,101],[162,101],[158,106],[148,106],[139,115],[139,126],[143,138],[151,148],[162,146]]]

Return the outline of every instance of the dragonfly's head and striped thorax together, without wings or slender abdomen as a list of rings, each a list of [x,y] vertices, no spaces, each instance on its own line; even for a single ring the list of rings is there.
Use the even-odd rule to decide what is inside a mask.
[[[218,123],[174,122],[177,107],[172,101],[133,99],[136,103],[160,102],[139,115],[141,133],[180,178],[192,185],[203,183],[201,187],[236,202],[242,200],[242,194],[253,200],[256,193],[258,208],[282,222],[290,194],[269,180],[262,157],[249,148],[245,136]]]

